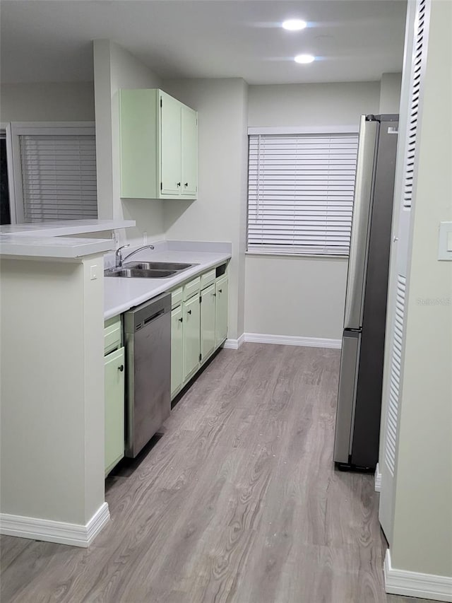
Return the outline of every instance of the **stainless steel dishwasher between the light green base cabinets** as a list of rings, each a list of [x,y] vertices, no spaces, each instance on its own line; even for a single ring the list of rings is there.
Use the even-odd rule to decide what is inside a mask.
[[[124,313],[126,457],[134,458],[171,411],[171,293]]]

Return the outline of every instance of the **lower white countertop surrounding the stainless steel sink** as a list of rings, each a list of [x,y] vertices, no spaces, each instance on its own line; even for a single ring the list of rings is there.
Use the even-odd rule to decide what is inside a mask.
[[[150,251],[139,252],[130,260],[124,262],[148,261],[148,262],[186,262],[197,264],[168,279],[127,279],[107,276],[104,279],[104,319],[112,318],[122,312],[126,312],[133,306],[140,305],[154,298],[160,293],[165,293],[177,287],[184,281],[209,268],[218,266],[230,259],[230,252],[208,252],[208,251]]]

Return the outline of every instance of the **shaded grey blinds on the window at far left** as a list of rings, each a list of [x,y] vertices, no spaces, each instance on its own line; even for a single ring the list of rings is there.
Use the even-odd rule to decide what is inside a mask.
[[[25,222],[97,218],[94,134],[20,134],[19,144]]]

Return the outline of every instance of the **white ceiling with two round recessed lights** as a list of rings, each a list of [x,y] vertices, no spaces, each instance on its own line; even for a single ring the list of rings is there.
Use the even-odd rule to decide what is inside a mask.
[[[405,10],[405,0],[2,0],[1,81],[91,81],[95,39],[162,78],[375,81],[402,69]],[[308,27],[287,32],[286,18]],[[305,52],[316,61],[296,64]]]

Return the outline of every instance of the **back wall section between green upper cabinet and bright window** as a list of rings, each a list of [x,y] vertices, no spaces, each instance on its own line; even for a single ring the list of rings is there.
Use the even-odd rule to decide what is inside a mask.
[[[244,330],[246,83],[167,80],[167,93],[198,111],[198,199],[165,201],[167,239],[232,242],[228,336]]]

